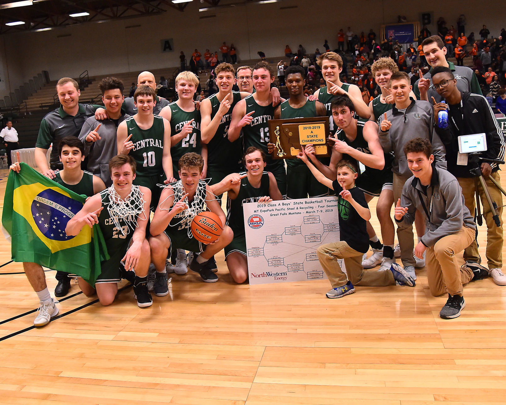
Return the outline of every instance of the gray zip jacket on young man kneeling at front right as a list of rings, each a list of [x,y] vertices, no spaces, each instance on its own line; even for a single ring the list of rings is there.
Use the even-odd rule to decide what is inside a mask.
[[[397,223],[413,223],[416,210],[426,217],[427,227],[421,242],[429,247],[444,236],[458,232],[462,224],[476,229],[473,217],[464,205],[462,189],[457,179],[444,169],[432,166],[431,184],[427,187],[427,195],[420,181],[411,176],[402,189],[401,207],[408,212]],[[432,202],[432,209],[431,209]],[[430,218],[429,218],[430,217]]]

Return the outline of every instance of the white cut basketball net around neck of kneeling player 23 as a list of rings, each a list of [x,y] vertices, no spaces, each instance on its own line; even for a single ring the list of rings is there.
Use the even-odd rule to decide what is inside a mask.
[[[126,227],[126,233],[124,233],[123,227],[120,225],[120,220],[133,221],[135,227],[139,226],[137,223],[137,217],[144,214],[143,220],[146,220],[146,214],[144,213],[144,201],[143,195],[139,186],[132,186],[132,191],[125,199],[122,199],[114,189],[114,185],[107,189],[107,195],[109,196],[109,204],[107,205],[107,211],[111,216],[114,225],[121,231],[123,235],[128,234],[130,229]]]

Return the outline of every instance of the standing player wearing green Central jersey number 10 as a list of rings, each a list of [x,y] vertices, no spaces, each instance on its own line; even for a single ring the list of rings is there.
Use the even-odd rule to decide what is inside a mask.
[[[174,181],[171,151],[170,124],[153,114],[156,95],[149,86],[139,86],[134,94],[137,114],[118,126],[118,154],[130,154],[138,168],[135,185],[151,190],[151,208],[158,204],[161,188],[157,184]],[[164,178],[165,177],[165,178]]]

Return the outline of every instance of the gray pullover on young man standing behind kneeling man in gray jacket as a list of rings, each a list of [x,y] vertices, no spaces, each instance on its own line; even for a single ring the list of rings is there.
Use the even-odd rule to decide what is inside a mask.
[[[385,153],[394,152],[392,171],[395,174],[405,177],[412,175],[404,154],[404,145],[414,138],[429,139],[436,166],[446,169],[445,148],[434,130],[434,110],[431,103],[411,98],[411,104],[405,112],[399,111],[394,105],[387,111],[387,119],[392,123],[392,127],[387,132],[383,132],[379,127],[379,143]]]

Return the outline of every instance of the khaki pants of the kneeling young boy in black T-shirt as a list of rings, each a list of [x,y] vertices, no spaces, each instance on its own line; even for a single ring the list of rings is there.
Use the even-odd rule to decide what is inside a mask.
[[[394,275],[388,271],[365,270],[362,267],[363,253],[357,252],[345,241],[320,246],[316,253],[332,288],[344,286],[348,280],[354,286],[390,286],[395,284]],[[344,259],[346,274],[336,259]]]

